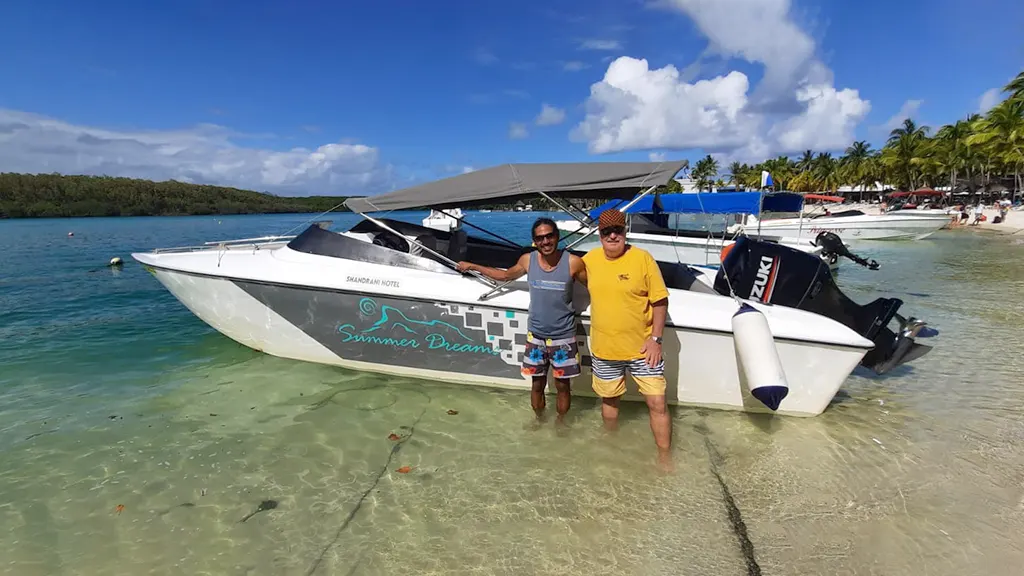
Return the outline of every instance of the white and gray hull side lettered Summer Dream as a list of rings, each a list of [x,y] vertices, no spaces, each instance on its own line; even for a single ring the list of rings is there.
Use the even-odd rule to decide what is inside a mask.
[[[161,268],[159,257],[133,256],[198,318],[265,354],[426,380],[530,387],[519,368],[524,308],[197,274]],[[589,317],[581,317],[584,372],[573,380],[577,396],[594,396],[589,330]],[[793,416],[820,414],[869,347],[782,338],[775,343],[791,388],[776,413]],[[770,412],[750,394],[731,333],[669,326],[664,355],[670,404]],[[642,399],[632,381],[626,399]]]

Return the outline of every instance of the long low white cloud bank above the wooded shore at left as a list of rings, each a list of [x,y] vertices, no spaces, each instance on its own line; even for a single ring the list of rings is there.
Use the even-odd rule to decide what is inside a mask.
[[[239,146],[233,140],[241,136],[212,124],[112,130],[0,109],[0,171],[177,179],[292,195],[374,193],[392,178],[373,147],[275,151]]]

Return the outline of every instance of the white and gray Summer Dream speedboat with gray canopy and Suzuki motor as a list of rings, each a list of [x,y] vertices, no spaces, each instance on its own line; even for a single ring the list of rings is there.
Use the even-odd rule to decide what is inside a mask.
[[[365,219],[342,233],[312,224],[290,238],[214,242],[132,257],[197,317],[254,349],[382,374],[526,390],[529,381],[520,373],[529,304],[525,279],[497,285],[460,274],[454,264],[471,260],[505,268],[529,248],[367,213],[538,194],[630,198],[665,184],[682,166],[506,164],[349,199],[346,206]],[[859,306],[842,296],[817,258],[779,246],[776,252],[757,251],[765,246],[771,248],[737,243],[714,282],[700,280],[701,273],[689,266],[659,262],[670,287],[664,344],[670,403],[813,416],[858,364],[885,372],[929,349],[914,342],[922,323],[901,320],[896,332],[887,328],[899,300]],[[768,258],[771,265],[752,258]],[[770,287],[763,278],[770,279]],[[723,295],[723,282],[735,297]],[[809,290],[812,284],[815,289]],[[744,292],[749,297],[741,299]],[[587,367],[589,297],[582,287],[577,296]],[[775,351],[784,369],[788,394],[774,406],[755,398],[755,389],[764,389],[751,379],[756,366],[737,358],[733,317],[740,302],[763,315],[770,332],[762,345]],[[835,310],[801,310],[815,306]],[[585,368],[573,386],[577,394],[592,394],[589,377]],[[627,399],[639,398],[631,384]]]

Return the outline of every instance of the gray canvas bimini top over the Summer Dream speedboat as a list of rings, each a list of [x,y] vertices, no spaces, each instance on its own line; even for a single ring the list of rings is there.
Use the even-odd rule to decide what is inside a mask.
[[[411,208],[466,208],[531,198],[540,193],[575,198],[632,198],[669,182],[687,162],[578,162],[502,164],[442,180],[365,198],[349,198],[353,212]]]

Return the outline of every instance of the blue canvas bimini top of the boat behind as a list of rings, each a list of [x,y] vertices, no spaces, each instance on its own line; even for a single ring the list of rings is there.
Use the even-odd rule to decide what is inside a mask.
[[[762,203],[763,199],[763,203]],[[625,206],[628,201],[612,200],[590,211],[590,217],[608,208]],[[658,194],[641,198],[626,210],[627,214],[760,214],[761,212],[799,212],[804,204],[800,194],[780,192],[718,192],[698,194]]]

